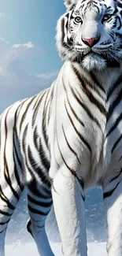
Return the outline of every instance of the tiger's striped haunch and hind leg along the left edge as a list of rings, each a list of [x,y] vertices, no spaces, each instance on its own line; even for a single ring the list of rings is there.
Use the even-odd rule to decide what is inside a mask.
[[[17,108],[0,117],[0,256],[5,255],[6,228],[24,188],[22,156],[17,136]]]

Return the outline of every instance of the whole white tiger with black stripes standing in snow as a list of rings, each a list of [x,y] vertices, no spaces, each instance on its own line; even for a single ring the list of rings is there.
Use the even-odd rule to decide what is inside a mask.
[[[102,187],[109,256],[122,255],[122,2],[65,0],[57,48],[65,58],[49,89],[0,117],[0,256],[21,191],[41,256],[52,202],[65,256],[87,256],[84,199]]]

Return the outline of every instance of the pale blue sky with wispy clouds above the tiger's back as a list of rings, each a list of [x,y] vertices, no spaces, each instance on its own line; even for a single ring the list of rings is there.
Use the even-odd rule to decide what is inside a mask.
[[[55,46],[63,0],[0,0],[0,112],[50,85],[61,68]]]

